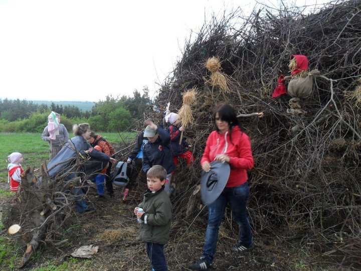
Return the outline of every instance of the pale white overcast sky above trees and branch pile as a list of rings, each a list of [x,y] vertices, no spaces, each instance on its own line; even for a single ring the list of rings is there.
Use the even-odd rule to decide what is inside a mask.
[[[255,0],[0,0],[0,99],[99,101],[107,94],[132,95],[145,85],[153,92],[205,17],[239,6],[249,14],[255,5]]]

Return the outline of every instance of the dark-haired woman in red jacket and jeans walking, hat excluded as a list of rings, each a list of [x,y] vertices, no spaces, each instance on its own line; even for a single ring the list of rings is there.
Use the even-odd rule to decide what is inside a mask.
[[[211,132],[207,139],[201,166],[204,171],[209,172],[212,161],[227,162],[231,167],[231,173],[221,195],[208,206],[208,226],[203,255],[196,263],[190,265],[193,270],[212,268],[219,226],[227,203],[231,207],[232,217],[240,231],[239,241],[231,250],[243,252],[253,249],[252,232],[246,210],[249,197],[247,170],[252,169],[254,165],[250,139],[243,132],[231,105],[219,105],[213,118],[216,130]]]

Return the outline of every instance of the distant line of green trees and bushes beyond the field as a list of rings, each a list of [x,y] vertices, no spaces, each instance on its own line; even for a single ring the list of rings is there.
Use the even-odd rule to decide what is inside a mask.
[[[140,119],[151,103],[148,87],[141,94],[114,98],[94,103],[91,111],[82,111],[75,105],[36,104],[27,100],[0,99],[0,132],[42,132],[48,122],[48,115],[55,111],[62,115],[62,123],[71,129],[73,123],[89,122],[96,131],[124,131],[134,120]]]

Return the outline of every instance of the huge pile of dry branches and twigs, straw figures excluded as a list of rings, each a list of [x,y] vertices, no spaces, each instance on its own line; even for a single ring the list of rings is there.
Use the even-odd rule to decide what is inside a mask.
[[[240,115],[263,112],[262,118],[240,117],[255,158],[249,172],[253,229],[284,240],[300,238],[327,255],[345,255],[343,264],[361,264],[361,1],[332,2],[308,15],[304,9],[262,6],[248,18],[237,10],[214,17],[186,44],[157,100],[162,106],[170,101],[176,112],[182,93],[198,89],[195,121],[185,131],[196,163],[191,172],[176,172],[174,216],[188,226],[206,221],[193,192],[214,129],[213,109],[228,102]],[[306,55],[310,70],[322,75],[302,101],[304,116],[287,113],[290,96],[271,97],[277,77],[289,74],[292,54]],[[228,92],[210,83],[205,63],[214,56],[231,79]]]

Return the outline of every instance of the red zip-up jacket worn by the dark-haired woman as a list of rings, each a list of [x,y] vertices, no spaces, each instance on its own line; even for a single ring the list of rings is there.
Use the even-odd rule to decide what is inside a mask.
[[[211,163],[220,154],[226,154],[231,158],[229,162],[231,173],[226,187],[235,187],[247,182],[247,170],[253,168],[254,161],[250,139],[240,127],[232,128],[232,142],[229,131],[224,134],[218,131],[211,132],[206,142],[201,165],[206,161]]]

